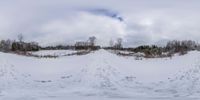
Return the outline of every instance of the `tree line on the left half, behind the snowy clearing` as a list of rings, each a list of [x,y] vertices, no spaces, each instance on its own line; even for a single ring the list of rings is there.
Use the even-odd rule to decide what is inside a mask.
[[[27,52],[39,50],[98,50],[101,47],[96,45],[96,37],[89,37],[86,41],[78,41],[74,45],[40,46],[37,42],[25,42],[24,36],[19,34],[17,40],[1,40],[0,51],[3,52]]]

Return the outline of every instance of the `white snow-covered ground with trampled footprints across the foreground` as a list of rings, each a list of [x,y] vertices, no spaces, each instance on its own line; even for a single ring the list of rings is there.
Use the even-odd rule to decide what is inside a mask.
[[[53,59],[0,53],[0,100],[199,100],[199,58],[197,51],[143,60],[105,50]]]

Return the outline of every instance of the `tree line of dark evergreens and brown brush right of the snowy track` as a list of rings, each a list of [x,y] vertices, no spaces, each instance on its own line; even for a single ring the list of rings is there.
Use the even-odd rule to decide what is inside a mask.
[[[130,51],[134,53],[143,53],[146,58],[156,57],[172,57],[174,54],[184,55],[188,51],[200,50],[200,45],[192,40],[172,40],[168,41],[165,46],[159,47],[157,45],[142,45],[135,48],[116,48],[114,46],[105,47],[108,50]],[[119,53],[119,52],[118,52]],[[121,53],[119,53],[121,54]],[[123,54],[121,54],[123,55]]]

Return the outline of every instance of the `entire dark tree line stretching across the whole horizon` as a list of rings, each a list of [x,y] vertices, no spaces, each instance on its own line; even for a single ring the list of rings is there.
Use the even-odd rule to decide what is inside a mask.
[[[1,40],[0,51],[3,52],[15,52],[15,51],[39,51],[39,50],[120,50],[120,51],[131,51],[134,53],[144,53],[145,57],[170,57],[176,53],[180,55],[186,54],[188,51],[200,50],[200,45],[192,40],[173,40],[167,42],[163,47],[157,45],[142,45],[135,48],[123,47],[122,38],[117,38],[115,41],[110,40],[109,46],[101,47],[96,45],[97,38],[95,36],[89,37],[85,41],[77,41],[74,45],[56,45],[56,46],[39,46],[36,42],[24,42],[24,36],[18,35],[18,40]]]

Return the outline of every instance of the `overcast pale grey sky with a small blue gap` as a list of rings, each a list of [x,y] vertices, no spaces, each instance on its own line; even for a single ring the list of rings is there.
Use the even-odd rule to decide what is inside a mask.
[[[200,0],[0,0],[0,40],[125,46],[200,40]]]

